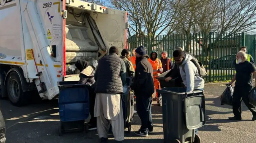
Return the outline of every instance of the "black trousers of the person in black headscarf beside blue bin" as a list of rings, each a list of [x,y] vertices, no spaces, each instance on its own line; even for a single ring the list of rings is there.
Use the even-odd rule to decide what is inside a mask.
[[[94,88],[92,88],[92,86],[86,85],[86,87],[89,90],[89,104],[90,104],[89,110],[90,110],[90,116],[91,116],[89,124],[97,125],[97,118],[94,117],[94,105],[95,105],[96,93],[94,93]]]

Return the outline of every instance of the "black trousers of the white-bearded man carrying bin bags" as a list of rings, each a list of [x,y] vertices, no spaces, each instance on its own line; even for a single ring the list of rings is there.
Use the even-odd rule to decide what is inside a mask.
[[[252,109],[252,105],[249,104],[248,95],[252,89],[252,86],[235,86],[233,95],[233,113],[237,118],[241,118],[242,114],[242,101],[247,106],[247,108],[252,112],[253,116],[256,116],[256,111]]]

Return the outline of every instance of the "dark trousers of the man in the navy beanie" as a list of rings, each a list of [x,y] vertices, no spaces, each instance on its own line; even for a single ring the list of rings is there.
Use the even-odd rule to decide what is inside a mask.
[[[137,113],[141,120],[141,130],[152,131],[153,123],[152,123],[152,114],[151,114],[151,106],[152,106],[152,96],[144,97],[144,96],[136,96],[136,107]]]

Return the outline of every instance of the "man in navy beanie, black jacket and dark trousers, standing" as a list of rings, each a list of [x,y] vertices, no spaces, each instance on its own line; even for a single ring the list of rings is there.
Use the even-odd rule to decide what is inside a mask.
[[[148,133],[153,133],[151,115],[152,94],[154,93],[153,68],[148,61],[149,56],[144,46],[138,47],[135,52],[136,69],[131,88],[136,95],[137,113],[141,120],[140,129],[135,134],[146,137]]]

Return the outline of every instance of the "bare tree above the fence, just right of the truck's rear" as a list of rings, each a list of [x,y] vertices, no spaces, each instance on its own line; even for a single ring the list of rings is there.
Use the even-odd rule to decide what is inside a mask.
[[[184,13],[178,14],[182,0],[110,0],[120,10],[128,12],[130,32],[154,39],[164,32],[172,33],[186,16],[188,5],[183,5]]]

